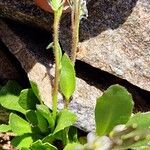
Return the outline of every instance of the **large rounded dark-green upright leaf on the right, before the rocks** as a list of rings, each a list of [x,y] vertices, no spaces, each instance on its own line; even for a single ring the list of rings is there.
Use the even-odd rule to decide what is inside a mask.
[[[133,109],[132,96],[120,85],[113,85],[97,99],[95,108],[96,133],[109,134],[119,124],[125,124]]]

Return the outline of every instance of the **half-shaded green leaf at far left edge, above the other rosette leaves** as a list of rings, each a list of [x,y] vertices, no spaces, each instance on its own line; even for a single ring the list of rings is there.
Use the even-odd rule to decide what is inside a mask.
[[[21,87],[15,81],[8,81],[0,91],[0,104],[9,110],[15,110],[25,113],[25,110],[19,105],[19,94]]]

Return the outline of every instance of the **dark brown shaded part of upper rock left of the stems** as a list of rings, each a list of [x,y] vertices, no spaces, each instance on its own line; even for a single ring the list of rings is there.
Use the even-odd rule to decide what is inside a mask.
[[[38,8],[33,0],[1,0],[0,16],[51,30],[52,14]],[[41,21],[42,20],[42,21]]]

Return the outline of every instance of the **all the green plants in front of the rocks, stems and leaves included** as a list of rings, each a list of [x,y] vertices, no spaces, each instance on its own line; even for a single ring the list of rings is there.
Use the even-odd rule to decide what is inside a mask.
[[[131,117],[133,101],[125,88],[113,85],[97,99],[95,108],[96,134],[93,139],[85,137],[78,140],[77,129],[72,127],[77,121],[74,113],[68,109],[57,112],[58,87],[65,97],[65,106],[75,91],[76,77],[74,63],[78,46],[80,19],[87,16],[86,1],[68,0],[72,9],[72,50],[71,59],[67,54],[62,56],[59,45],[59,23],[65,0],[48,0],[54,11],[54,42],[47,47],[53,48],[55,56],[55,80],[53,90],[53,110],[43,104],[38,86],[30,81],[31,89],[21,91],[14,81],[0,86],[0,105],[12,110],[8,125],[0,125],[0,132],[13,132],[11,143],[20,150],[87,150],[103,145],[114,150],[149,149],[150,112],[138,113]],[[59,84],[60,82],[60,84]],[[123,128],[116,128],[123,124]],[[121,125],[122,126],[122,125]],[[104,140],[105,139],[105,140]],[[55,145],[59,140],[60,145]],[[106,144],[105,144],[106,142]],[[55,147],[56,146],[56,147]],[[98,148],[99,148],[98,147]],[[60,148],[58,148],[60,149]],[[106,149],[106,148],[105,148]]]

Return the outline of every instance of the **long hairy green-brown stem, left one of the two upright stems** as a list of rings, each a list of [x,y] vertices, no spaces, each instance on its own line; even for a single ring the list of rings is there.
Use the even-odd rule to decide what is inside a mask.
[[[53,89],[53,117],[54,120],[56,119],[57,115],[57,103],[58,103],[58,87],[59,87],[59,76],[60,76],[60,70],[59,70],[59,23],[60,18],[62,15],[63,8],[60,8],[57,11],[54,11],[54,56],[55,56],[55,78],[54,78],[54,89]]]

